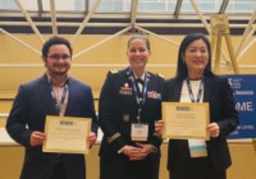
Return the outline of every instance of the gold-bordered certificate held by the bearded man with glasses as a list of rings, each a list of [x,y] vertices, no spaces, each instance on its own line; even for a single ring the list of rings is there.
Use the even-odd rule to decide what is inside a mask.
[[[92,119],[46,116],[44,152],[89,153]]]

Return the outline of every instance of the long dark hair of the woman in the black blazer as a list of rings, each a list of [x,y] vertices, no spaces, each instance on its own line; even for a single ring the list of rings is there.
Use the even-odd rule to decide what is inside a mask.
[[[188,45],[190,45],[191,43],[199,39],[202,39],[205,42],[205,44],[207,45],[208,54],[209,54],[208,64],[206,65],[206,68],[203,74],[204,76],[213,75],[211,71],[211,45],[208,38],[201,33],[190,33],[186,35],[186,37],[182,41],[182,44],[180,45],[179,54],[178,54],[178,63],[177,63],[178,67],[176,71],[177,78],[185,79],[187,77],[187,67],[186,67],[186,63],[183,62],[182,54],[183,53],[185,54],[186,48]]]

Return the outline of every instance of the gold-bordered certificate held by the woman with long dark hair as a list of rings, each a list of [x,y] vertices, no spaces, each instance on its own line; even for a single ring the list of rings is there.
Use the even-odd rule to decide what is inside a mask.
[[[165,138],[210,139],[206,129],[210,123],[208,103],[162,102],[162,118]]]

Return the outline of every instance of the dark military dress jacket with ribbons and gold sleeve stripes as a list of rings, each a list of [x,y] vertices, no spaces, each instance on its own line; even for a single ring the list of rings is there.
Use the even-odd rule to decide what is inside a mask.
[[[132,91],[132,74],[125,70],[109,71],[102,87],[99,98],[99,125],[104,133],[99,156],[104,159],[117,157],[118,150],[125,145],[135,146],[131,141],[131,125],[137,123],[138,107]],[[147,144],[160,147],[162,138],[155,133],[155,121],[161,119],[161,96],[164,89],[164,80],[159,75],[147,72],[147,94],[156,92],[160,98],[146,96],[141,110],[141,123],[148,123]],[[122,93],[122,87],[129,86],[131,91]],[[160,157],[160,149],[151,156]],[[121,154],[122,156],[123,154]],[[150,156],[150,155],[149,155]]]

